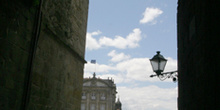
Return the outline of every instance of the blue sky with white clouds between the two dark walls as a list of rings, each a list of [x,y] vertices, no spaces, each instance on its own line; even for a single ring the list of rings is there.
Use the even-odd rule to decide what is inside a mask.
[[[177,110],[178,84],[149,77],[156,51],[177,70],[176,14],[177,0],[90,0],[84,78],[112,78],[123,110]]]

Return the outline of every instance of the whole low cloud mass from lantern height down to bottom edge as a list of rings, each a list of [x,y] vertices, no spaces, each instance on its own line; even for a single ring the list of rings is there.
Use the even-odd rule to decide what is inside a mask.
[[[113,50],[109,54],[117,56]],[[120,59],[120,58],[119,58]],[[161,82],[158,78],[150,78],[153,73],[149,58],[129,58],[116,62],[114,65],[96,64],[96,75],[102,79],[113,79],[117,86],[117,96],[125,110],[176,110],[177,88],[160,88],[149,83]],[[177,69],[177,60],[170,57],[166,65],[166,71]],[[95,64],[85,65],[85,77],[92,77]],[[171,79],[165,82],[172,82]],[[162,82],[162,83],[165,83]],[[140,86],[146,83],[148,86]],[[174,83],[175,84],[175,83]],[[123,86],[120,86],[123,85]],[[126,86],[127,85],[127,86]],[[132,95],[131,95],[132,94]],[[141,105],[141,106],[140,106]]]

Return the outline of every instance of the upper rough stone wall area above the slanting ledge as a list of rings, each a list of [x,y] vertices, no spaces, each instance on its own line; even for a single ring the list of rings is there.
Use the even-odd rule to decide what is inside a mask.
[[[83,58],[88,0],[44,1],[42,11],[46,29]]]

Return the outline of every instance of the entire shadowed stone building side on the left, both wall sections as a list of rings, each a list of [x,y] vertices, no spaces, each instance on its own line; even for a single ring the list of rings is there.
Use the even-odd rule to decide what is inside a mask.
[[[0,1],[0,110],[80,110],[88,2]]]

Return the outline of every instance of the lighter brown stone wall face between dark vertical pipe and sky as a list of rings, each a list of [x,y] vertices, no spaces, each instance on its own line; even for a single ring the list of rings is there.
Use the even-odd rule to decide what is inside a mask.
[[[30,109],[80,110],[87,0],[45,0]]]

